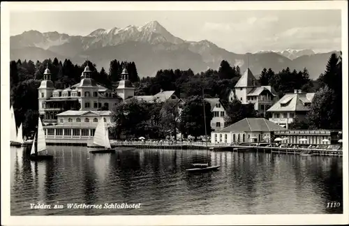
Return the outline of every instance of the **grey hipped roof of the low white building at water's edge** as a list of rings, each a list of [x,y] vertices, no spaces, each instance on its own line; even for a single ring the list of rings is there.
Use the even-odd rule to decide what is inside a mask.
[[[230,132],[270,132],[286,130],[285,128],[276,125],[272,121],[264,118],[245,118],[236,123],[219,130],[218,133]]]

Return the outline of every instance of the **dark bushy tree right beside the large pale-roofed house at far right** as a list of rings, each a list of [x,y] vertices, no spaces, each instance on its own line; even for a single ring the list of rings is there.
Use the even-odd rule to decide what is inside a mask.
[[[336,119],[334,110],[334,91],[328,86],[320,88],[313,97],[311,109],[306,114],[306,119],[312,128],[316,129],[336,129],[341,119]]]

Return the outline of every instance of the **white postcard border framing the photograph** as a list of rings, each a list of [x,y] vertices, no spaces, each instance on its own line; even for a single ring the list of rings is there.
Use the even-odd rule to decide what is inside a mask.
[[[10,216],[9,12],[33,10],[342,10],[343,214],[225,216]],[[1,2],[1,225],[330,225],[348,224],[348,2]],[[306,197],[305,197],[306,198]]]

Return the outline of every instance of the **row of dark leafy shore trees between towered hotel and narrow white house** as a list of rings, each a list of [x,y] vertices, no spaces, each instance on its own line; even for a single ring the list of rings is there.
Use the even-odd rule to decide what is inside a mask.
[[[205,105],[205,108],[204,108]],[[205,109],[206,117],[202,117]],[[201,96],[188,98],[186,103],[181,100],[168,100],[165,103],[131,99],[121,101],[112,111],[112,121],[115,123],[114,133],[119,139],[121,134],[126,137],[147,136],[148,138],[176,137],[181,132],[184,135],[198,137],[211,132],[211,105],[203,101]]]

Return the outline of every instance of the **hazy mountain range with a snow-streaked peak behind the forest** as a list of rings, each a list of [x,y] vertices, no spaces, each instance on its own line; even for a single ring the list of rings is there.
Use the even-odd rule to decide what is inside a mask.
[[[336,52],[336,51],[334,51]],[[229,52],[208,40],[198,42],[173,36],[156,21],[142,27],[96,29],[87,36],[69,36],[66,33],[24,31],[10,37],[10,59],[70,59],[83,63],[87,59],[98,68],[109,69],[110,61],[134,61],[140,77],[154,76],[161,69],[191,68],[195,73],[207,68],[218,69],[222,60],[241,70],[251,69],[258,76],[263,68],[279,72],[307,68],[316,79],[325,71],[332,52],[317,53],[313,50],[260,51],[253,54]]]

